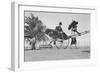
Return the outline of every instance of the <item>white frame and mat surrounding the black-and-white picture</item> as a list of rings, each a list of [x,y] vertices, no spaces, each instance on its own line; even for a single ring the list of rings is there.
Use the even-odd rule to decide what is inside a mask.
[[[79,8],[80,7],[80,8]],[[90,13],[91,14],[91,59],[84,60],[61,60],[61,61],[41,61],[41,62],[24,62],[24,10],[33,11],[52,11],[52,12],[73,12],[73,13]],[[56,7],[56,6],[38,6],[32,4],[18,3],[14,4],[14,50],[12,50],[14,57],[12,57],[12,69],[13,70],[29,70],[29,69],[45,69],[54,67],[73,67],[83,65],[96,64],[96,48],[94,45],[95,38],[95,20],[96,20],[96,8],[95,7],[83,7],[83,6],[67,6],[67,7]],[[23,25],[22,25],[23,24]],[[95,48],[95,49],[94,49]]]

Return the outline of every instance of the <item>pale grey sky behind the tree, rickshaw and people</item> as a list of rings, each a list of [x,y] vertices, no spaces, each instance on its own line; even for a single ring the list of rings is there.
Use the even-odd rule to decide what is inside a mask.
[[[90,14],[86,13],[65,13],[65,12],[39,12],[39,11],[25,11],[25,16],[30,16],[31,13],[43,22],[47,28],[55,29],[62,22],[62,29],[67,34],[70,35],[71,31],[68,30],[68,26],[71,24],[72,20],[78,21],[78,31],[83,32],[85,30],[90,30]],[[90,34],[86,34],[77,37],[79,46],[89,46],[90,45]]]

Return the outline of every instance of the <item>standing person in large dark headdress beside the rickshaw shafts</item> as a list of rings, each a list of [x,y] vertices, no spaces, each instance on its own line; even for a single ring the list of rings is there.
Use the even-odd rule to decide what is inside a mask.
[[[76,37],[74,36],[75,33],[80,35],[80,33],[77,31],[77,24],[78,22],[73,20],[72,23],[68,27],[68,30],[71,30],[71,34],[73,35],[73,37],[71,38],[71,46],[70,46],[71,49],[72,49],[72,46],[75,46],[77,48],[76,46],[77,40],[76,40]]]

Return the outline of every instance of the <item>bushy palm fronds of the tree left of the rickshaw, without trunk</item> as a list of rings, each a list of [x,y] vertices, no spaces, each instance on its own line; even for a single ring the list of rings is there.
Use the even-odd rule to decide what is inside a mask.
[[[35,38],[36,41],[46,41],[45,36],[45,26],[43,25],[42,21],[39,20],[38,17],[35,17],[32,13],[31,16],[26,17],[24,19],[24,34],[25,36]]]

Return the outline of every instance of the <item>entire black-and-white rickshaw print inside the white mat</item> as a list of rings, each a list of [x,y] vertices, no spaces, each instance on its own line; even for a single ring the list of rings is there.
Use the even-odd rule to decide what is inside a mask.
[[[24,11],[24,61],[90,59],[90,14]]]

